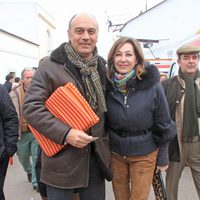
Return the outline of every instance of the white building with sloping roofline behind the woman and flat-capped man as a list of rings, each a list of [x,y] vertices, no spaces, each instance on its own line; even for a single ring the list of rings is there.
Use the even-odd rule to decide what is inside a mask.
[[[158,58],[175,57],[175,49],[200,28],[199,0],[166,0],[127,22],[120,35],[159,40],[151,48]],[[144,49],[146,58],[153,58]]]

